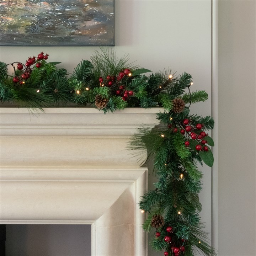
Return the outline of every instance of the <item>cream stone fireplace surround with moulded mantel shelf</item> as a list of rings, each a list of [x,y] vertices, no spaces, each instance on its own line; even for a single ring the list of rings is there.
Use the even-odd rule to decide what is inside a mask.
[[[146,255],[147,169],[126,146],[160,110],[0,108],[0,223],[92,224],[92,256]]]

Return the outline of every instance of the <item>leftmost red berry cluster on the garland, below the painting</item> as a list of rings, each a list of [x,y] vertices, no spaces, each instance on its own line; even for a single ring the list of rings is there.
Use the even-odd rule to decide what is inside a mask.
[[[22,70],[22,74],[20,76],[15,76],[12,81],[16,84],[16,83],[20,83],[20,85],[24,84],[24,80],[30,78],[30,74],[32,72],[32,68],[31,66],[33,64],[36,63],[36,67],[37,68],[40,68],[41,66],[41,62],[40,60],[44,59],[44,60],[47,60],[48,59],[48,56],[49,54],[46,54],[44,55],[43,52],[39,53],[38,56],[37,56],[37,60],[36,60],[36,57],[33,56],[33,57],[29,57],[27,60],[26,60],[26,63],[25,63],[25,69],[23,70],[24,66],[23,64],[21,64],[20,62],[18,62],[17,64],[17,69],[18,70]]]

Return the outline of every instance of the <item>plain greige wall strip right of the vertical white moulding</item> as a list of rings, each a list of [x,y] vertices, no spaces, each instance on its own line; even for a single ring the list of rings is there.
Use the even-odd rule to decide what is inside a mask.
[[[219,256],[256,255],[256,1],[219,1]]]

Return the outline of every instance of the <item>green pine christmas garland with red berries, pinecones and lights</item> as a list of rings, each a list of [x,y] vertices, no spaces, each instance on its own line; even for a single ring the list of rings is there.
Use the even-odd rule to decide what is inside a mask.
[[[126,107],[162,107],[161,126],[139,128],[129,146],[148,151],[159,179],[155,190],[146,192],[139,204],[148,213],[143,228],[155,229],[151,245],[165,251],[165,256],[215,255],[205,241],[199,217],[203,174],[197,166],[213,165],[209,146],[214,143],[206,132],[213,129],[214,120],[190,114],[190,105],[206,101],[207,92],[190,91],[190,74],[176,76],[164,70],[146,76],[150,70],[129,63],[127,55],[118,59],[107,49],[96,52],[91,61],[82,60],[71,75],[57,69],[59,62],[47,63],[48,56],[41,52],[25,64],[0,62],[1,101],[40,109],[75,103],[105,113]]]

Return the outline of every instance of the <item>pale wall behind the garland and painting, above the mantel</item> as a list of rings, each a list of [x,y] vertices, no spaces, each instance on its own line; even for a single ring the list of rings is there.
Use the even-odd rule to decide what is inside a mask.
[[[115,0],[117,54],[130,54],[131,61],[153,71],[170,67],[193,76],[193,90],[206,90],[207,103],[192,111],[211,114],[211,1],[210,0]],[[2,62],[24,62],[39,52],[70,72],[98,47],[0,47]],[[204,167],[202,218],[211,231],[211,170]],[[151,180],[149,181],[151,184]],[[153,255],[149,252],[149,255]],[[162,255],[162,254],[160,254]]]

